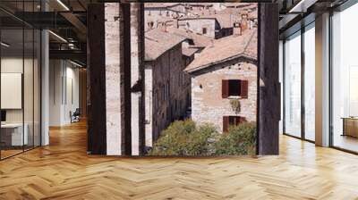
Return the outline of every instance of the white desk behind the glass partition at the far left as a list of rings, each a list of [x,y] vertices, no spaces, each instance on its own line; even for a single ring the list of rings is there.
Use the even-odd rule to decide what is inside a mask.
[[[23,146],[28,145],[28,124],[24,124],[25,128],[22,136],[22,123],[4,123],[1,124],[1,138],[6,146]]]

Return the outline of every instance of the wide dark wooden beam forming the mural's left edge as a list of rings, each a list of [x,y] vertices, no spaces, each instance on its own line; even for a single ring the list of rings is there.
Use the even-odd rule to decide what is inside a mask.
[[[106,55],[104,4],[90,4],[88,10],[88,151],[107,154]]]

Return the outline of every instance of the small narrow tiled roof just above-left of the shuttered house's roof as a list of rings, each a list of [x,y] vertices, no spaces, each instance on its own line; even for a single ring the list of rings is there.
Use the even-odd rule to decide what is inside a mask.
[[[177,29],[175,27],[166,28],[169,33],[172,33],[177,36],[186,37],[192,39],[194,46],[205,47],[211,44],[213,40],[211,37],[203,36],[197,33],[192,32],[189,29]]]

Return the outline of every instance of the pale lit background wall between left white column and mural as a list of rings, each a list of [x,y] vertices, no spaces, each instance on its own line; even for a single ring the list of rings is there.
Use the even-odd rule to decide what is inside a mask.
[[[64,60],[50,60],[49,65],[49,126],[63,126],[79,108],[79,69]]]

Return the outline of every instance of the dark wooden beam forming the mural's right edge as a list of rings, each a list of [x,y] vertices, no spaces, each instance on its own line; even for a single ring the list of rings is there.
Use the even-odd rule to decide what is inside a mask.
[[[278,154],[278,5],[259,4],[258,154]]]

